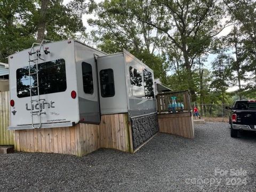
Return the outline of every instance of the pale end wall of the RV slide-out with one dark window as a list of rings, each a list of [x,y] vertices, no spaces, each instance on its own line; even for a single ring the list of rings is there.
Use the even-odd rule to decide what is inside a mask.
[[[127,113],[123,53],[99,57],[98,77],[101,114]]]

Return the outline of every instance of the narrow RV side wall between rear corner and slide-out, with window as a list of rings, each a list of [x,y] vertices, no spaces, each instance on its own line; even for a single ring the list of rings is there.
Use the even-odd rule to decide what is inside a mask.
[[[79,116],[82,123],[100,123],[97,63],[95,57],[105,55],[75,42]]]

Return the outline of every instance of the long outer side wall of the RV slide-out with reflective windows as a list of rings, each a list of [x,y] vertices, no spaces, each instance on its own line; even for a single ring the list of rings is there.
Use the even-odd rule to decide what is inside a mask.
[[[124,59],[130,117],[155,113],[156,99],[153,70],[127,51],[124,51]],[[145,72],[148,74],[147,77]],[[148,79],[151,86],[146,87],[146,79]]]

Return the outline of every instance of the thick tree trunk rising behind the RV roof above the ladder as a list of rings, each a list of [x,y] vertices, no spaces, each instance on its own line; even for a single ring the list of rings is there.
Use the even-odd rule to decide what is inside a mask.
[[[41,0],[40,18],[37,26],[37,42],[38,43],[41,43],[44,39],[48,1],[49,0]]]

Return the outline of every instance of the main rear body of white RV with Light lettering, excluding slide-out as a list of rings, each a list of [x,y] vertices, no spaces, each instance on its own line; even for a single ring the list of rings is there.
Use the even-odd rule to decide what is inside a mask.
[[[95,58],[101,55],[106,53],[71,40],[10,55],[9,129],[72,126],[78,122],[98,124]]]

